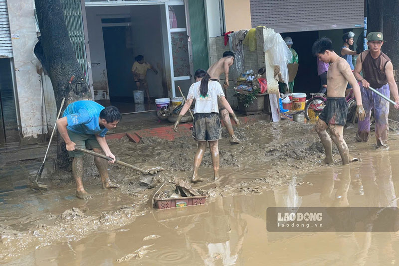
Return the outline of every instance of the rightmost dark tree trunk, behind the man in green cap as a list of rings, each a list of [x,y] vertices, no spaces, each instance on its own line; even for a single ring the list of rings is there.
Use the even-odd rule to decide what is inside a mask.
[[[399,78],[399,1],[384,0],[384,42],[383,51],[392,60],[394,77]],[[392,98],[392,95],[391,95]],[[393,99],[393,98],[392,98]],[[399,122],[399,111],[391,105],[389,118]],[[392,125],[394,126],[394,125]],[[397,126],[397,125],[396,125]]]

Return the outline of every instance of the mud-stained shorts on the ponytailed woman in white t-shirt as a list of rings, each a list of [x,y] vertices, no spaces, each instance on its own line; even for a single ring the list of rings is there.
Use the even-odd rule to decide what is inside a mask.
[[[221,139],[220,119],[217,113],[194,114],[193,126],[193,137],[196,140]]]

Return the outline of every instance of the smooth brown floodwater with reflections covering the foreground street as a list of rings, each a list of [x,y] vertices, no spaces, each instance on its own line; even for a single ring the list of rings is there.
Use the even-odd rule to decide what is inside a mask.
[[[361,152],[362,161],[294,172],[290,184],[273,190],[255,186],[233,196],[219,191],[202,206],[136,212],[133,222],[119,226],[113,226],[115,219],[102,225],[89,223],[94,233],[81,234],[76,229],[72,231],[75,237],[69,233],[56,241],[31,245],[3,265],[398,265],[398,232],[266,229],[268,207],[397,207],[399,152],[395,145],[388,151],[364,145],[356,152]],[[263,176],[264,167],[223,174],[235,183],[246,182]],[[220,183],[224,187],[230,181],[225,177]],[[112,210],[129,205],[130,195],[105,191],[96,197],[99,202],[81,201],[79,206],[74,201],[63,208],[77,207],[94,216],[97,204]],[[64,227],[57,232],[62,235],[68,230]]]

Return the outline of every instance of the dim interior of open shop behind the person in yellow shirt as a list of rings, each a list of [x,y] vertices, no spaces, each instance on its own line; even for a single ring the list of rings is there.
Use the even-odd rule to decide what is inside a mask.
[[[137,90],[132,65],[137,55],[158,71],[149,69],[150,99],[162,98],[167,93],[165,76],[165,47],[161,25],[164,5],[132,5],[86,7],[89,33],[93,87],[96,101],[114,105],[122,113],[154,110],[145,102],[134,104]],[[169,64],[169,62],[168,62]],[[143,89],[143,88],[140,88]],[[145,93],[144,93],[145,95]]]

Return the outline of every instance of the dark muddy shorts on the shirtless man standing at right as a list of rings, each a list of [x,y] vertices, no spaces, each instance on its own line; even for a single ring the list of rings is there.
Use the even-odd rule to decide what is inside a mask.
[[[319,115],[319,119],[328,125],[345,126],[348,115],[348,103],[344,97],[327,98],[326,106]]]

